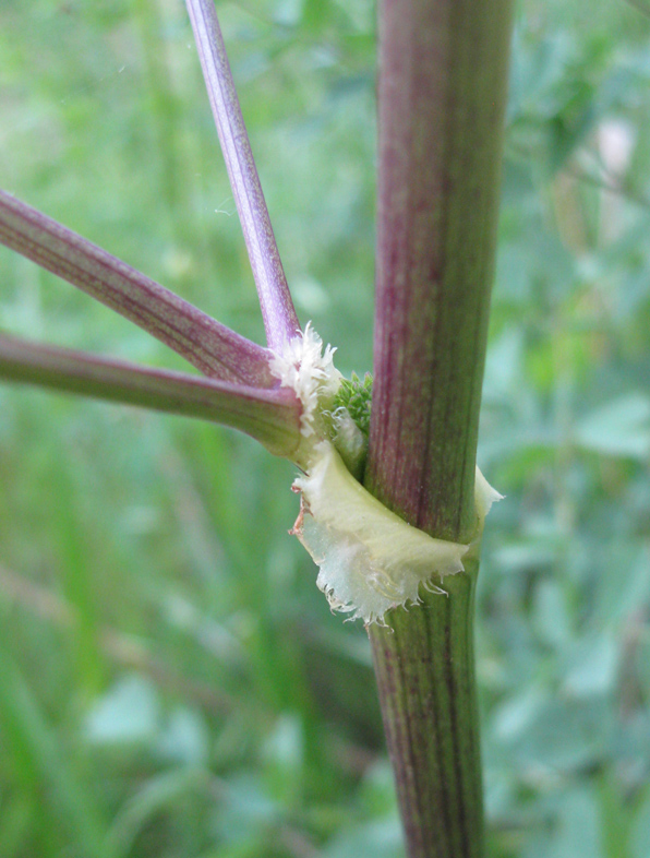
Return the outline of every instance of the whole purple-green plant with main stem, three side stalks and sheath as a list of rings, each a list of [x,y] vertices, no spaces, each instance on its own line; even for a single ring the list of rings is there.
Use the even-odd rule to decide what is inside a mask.
[[[0,241],[205,377],[0,334],[0,378],[220,422],[298,464],[294,532],[321,565],[318,585],[334,608],[385,627],[370,633],[409,855],[480,855],[471,607],[496,496],[474,467],[509,0],[380,3],[372,408],[371,379],[342,381],[333,350],[309,325],[301,332],[214,2],[186,5],[266,347],[0,191]],[[407,604],[419,607],[407,615]]]

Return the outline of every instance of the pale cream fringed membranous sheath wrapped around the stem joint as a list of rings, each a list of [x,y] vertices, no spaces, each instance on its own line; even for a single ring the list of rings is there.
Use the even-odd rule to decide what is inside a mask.
[[[444,577],[462,571],[470,545],[434,539],[412,527],[350,473],[346,450],[337,450],[340,420],[330,419],[341,384],[333,349],[328,346],[322,355],[322,342],[308,326],[290,351],[272,362],[272,371],[303,403],[299,464],[304,475],[293,482],[302,498],[292,533],[318,565],[316,583],[332,609],[349,613],[349,619],[383,623],[389,609],[418,603],[420,587],[444,594]],[[477,468],[477,540],[499,498]]]

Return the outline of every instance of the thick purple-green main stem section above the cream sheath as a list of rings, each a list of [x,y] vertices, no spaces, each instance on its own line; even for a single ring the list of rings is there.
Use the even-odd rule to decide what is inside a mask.
[[[382,0],[375,367],[366,481],[453,541],[473,490],[510,0]]]

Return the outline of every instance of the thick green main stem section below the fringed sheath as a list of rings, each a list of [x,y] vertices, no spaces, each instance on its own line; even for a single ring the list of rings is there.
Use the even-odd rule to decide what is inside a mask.
[[[370,629],[411,858],[479,858],[483,802],[473,666],[477,565]]]

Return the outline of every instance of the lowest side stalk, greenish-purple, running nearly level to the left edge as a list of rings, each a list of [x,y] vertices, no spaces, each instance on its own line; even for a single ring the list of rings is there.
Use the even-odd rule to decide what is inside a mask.
[[[148,369],[4,334],[0,334],[0,378],[224,424],[277,455],[290,456],[300,438],[299,405],[287,389],[262,391]]]

